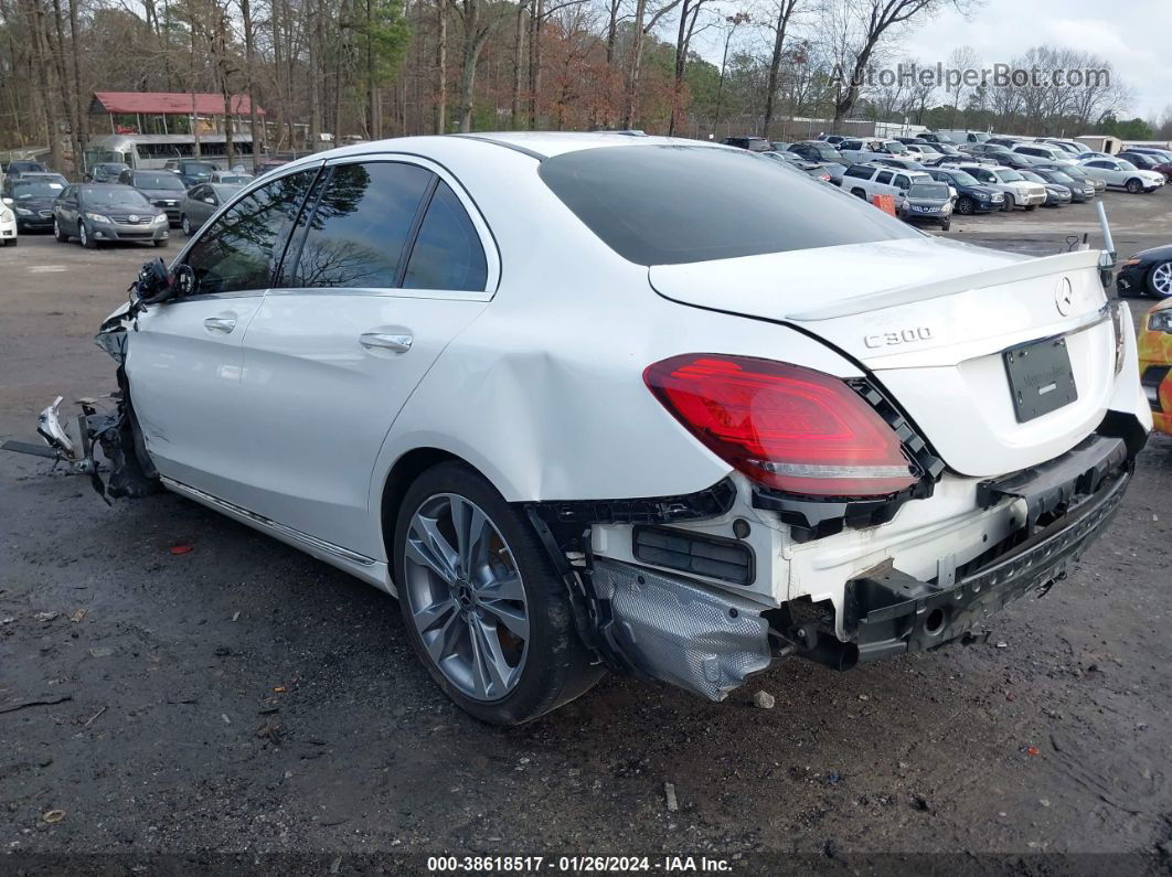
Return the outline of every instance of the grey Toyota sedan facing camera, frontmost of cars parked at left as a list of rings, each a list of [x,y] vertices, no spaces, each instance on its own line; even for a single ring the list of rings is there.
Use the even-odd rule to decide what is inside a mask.
[[[141,241],[165,247],[166,213],[130,186],[75,183],[53,203],[53,233],[66,244],[76,238],[88,249],[110,241]]]

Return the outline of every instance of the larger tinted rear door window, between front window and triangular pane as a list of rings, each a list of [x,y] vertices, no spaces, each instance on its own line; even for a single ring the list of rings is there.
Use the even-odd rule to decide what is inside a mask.
[[[334,167],[309,220],[294,287],[397,286],[403,249],[432,173],[413,164]]]

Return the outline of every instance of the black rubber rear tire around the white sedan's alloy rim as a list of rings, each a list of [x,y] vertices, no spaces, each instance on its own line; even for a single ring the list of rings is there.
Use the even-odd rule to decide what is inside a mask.
[[[411,519],[429,500],[455,494],[478,506],[507,543],[525,591],[529,638],[520,678],[497,700],[466,696],[428,655],[411,616],[406,543]],[[408,488],[398,509],[394,537],[395,581],[400,583],[403,626],[416,656],[440,688],[464,712],[493,725],[531,721],[588,691],[601,677],[601,665],[578,637],[563,582],[529,520],[505,502],[496,488],[470,466],[441,463],[423,472]]]

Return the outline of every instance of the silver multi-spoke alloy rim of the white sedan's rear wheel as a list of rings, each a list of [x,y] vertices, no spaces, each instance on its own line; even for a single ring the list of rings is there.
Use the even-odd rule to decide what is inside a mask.
[[[400,596],[431,662],[475,700],[509,694],[525,669],[529,605],[500,530],[475,502],[441,493],[416,509],[403,550]]]

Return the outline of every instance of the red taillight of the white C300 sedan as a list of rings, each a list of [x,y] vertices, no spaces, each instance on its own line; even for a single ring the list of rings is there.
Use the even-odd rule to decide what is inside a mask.
[[[838,378],[798,365],[686,354],[643,382],[696,438],[789,493],[877,496],[915,482],[899,437]]]

